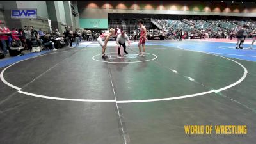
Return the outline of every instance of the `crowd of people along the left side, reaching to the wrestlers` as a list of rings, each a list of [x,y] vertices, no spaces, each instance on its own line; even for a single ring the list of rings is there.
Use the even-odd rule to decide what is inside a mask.
[[[42,31],[42,28],[36,30],[33,26],[24,26],[24,28],[12,28],[11,30],[0,20],[0,58],[5,58],[8,53],[10,56],[22,56],[26,52],[40,52],[44,49],[56,51],[60,48],[60,42],[63,46],[78,46],[82,40],[97,40],[100,32],[91,32],[90,30],[65,28],[64,33],[58,29],[53,31]],[[55,43],[55,44],[54,44]],[[58,45],[57,45],[58,44]]]

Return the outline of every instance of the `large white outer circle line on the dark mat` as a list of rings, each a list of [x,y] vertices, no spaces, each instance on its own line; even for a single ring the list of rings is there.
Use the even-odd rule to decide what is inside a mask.
[[[184,48],[181,48],[179,46],[177,46],[177,47],[179,49],[184,49]],[[170,50],[172,50],[172,49],[170,49]],[[184,51],[192,51],[192,50],[184,49]],[[200,51],[193,51],[193,52],[200,52]],[[205,52],[201,52],[201,53],[211,54],[211,53],[205,53]],[[51,53],[51,54],[54,54],[54,53]],[[44,54],[44,55],[48,55],[48,54]],[[44,55],[40,55],[40,56],[44,56]],[[216,54],[211,54],[211,55],[218,56]],[[36,57],[38,57],[38,56],[36,56]],[[17,86],[13,86],[12,84],[8,83],[7,81],[5,81],[5,79],[3,77],[4,71],[7,68],[11,67],[12,65],[15,65],[16,63],[19,63],[20,61],[18,61],[16,63],[13,63],[12,65],[4,68],[4,70],[1,72],[1,80],[3,81],[3,83],[7,84],[8,86],[10,86],[12,88],[15,88],[16,90],[19,90],[18,91],[19,93],[23,93],[25,95],[31,95],[33,97],[41,97],[41,98],[45,98],[45,99],[81,101],[81,102],[116,102],[117,104],[120,104],[120,103],[134,103],[134,102],[157,102],[157,101],[164,101],[164,100],[174,100],[174,99],[184,99],[184,98],[188,98],[188,97],[196,97],[196,96],[205,95],[205,94],[213,93],[213,92],[215,92],[215,93],[216,92],[221,92],[223,90],[227,90],[228,88],[232,88],[233,86],[236,86],[237,84],[241,83],[246,78],[246,76],[248,74],[248,70],[241,63],[238,63],[237,61],[231,60],[230,58],[226,58],[224,56],[219,56],[219,57],[225,58],[225,59],[230,60],[230,61],[234,61],[235,63],[237,63],[237,65],[241,66],[244,70],[243,76],[238,81],[236,81],[235,83],[230,84],[228,86],[225,86],[224,88],[220,88],[218,90],[210,90],[210,91],[202,92],[202,93],[195,93],[195,94],[191,94],[191,95],[182,95],[182,96],[178,96],[178,97],[169,97],[169,98],[163,98],[163,99],[120,100],[120,101],[118,101],[118,100],[93,100],[93,99],[67,99],[67,98],[50,97],[50,96],[45,96],[45,95],[37,95],[37,94],[34,94],[34,93],[23,92],[23,91],[21,91],[21,88],[19,88]],[[33,58],[35,58],[35,57],[33,57]],[[26,59],[26,60],[28,60],[28,59]],[[22,61],[24,61],[24,60],[22,60]]]

